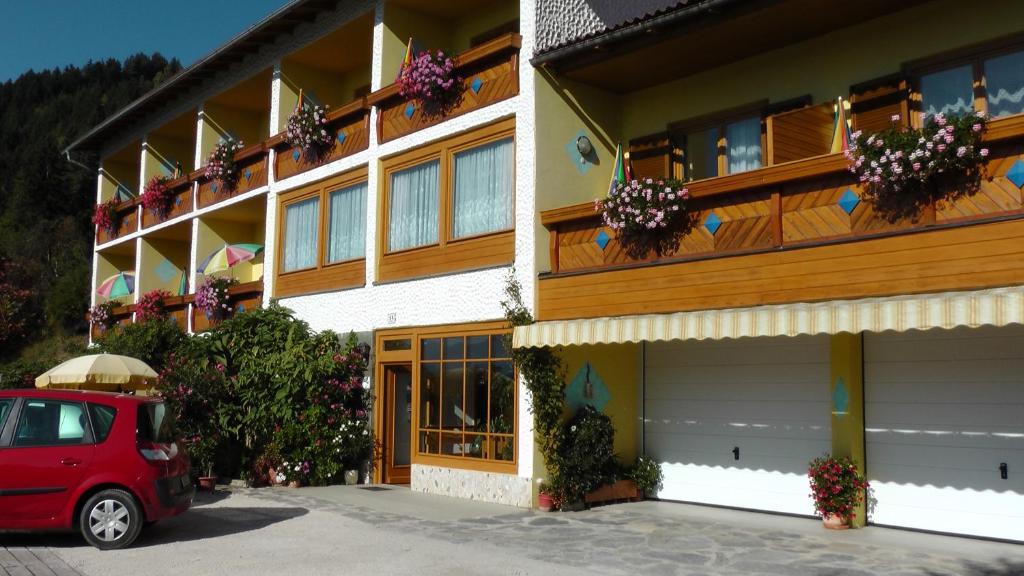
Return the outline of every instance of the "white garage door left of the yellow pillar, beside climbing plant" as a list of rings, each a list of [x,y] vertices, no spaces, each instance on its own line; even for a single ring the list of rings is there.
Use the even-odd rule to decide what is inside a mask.
[[[649,343],[644,402],[659,498],[814,513],[807,464],[831,446],[826,336]]]

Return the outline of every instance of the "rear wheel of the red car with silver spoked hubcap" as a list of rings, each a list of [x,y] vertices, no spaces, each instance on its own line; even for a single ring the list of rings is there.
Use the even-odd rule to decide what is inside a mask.
[[[86,541],[101,550],[131,545],[142,531],[142,510],[124,490],[103,490],[93,494],[79,516]]]

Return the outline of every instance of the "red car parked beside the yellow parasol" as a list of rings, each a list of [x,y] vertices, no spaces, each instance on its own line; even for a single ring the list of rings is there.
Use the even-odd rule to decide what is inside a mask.
[[[0,390],[0,530],[77,529],[122,548],[183,512],[188,457],[157,398]]]

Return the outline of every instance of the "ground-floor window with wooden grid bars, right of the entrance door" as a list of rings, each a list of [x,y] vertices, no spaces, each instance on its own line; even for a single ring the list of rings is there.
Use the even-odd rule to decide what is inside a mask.
[[[515,461],[515,373],[505,338],[420,339],[418,453]]]

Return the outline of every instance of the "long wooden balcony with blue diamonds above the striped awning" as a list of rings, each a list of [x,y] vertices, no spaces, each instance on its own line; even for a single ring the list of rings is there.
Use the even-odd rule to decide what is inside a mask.
[[[939,203],[918,221],[876,214],[841,154],[691,182],[693,229],[662,258],[629,257],[592,203],[543,212],[551,273],[541,278],[539,318],[1024,283],[1024,202],[1007,177],[1024,161],[1024,116],[990,122],[986,146],[981,190]]]

